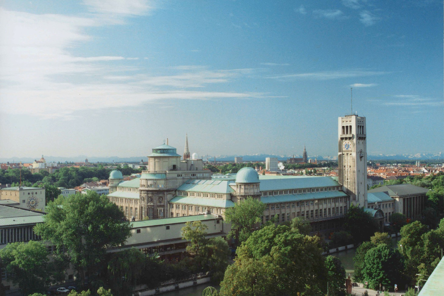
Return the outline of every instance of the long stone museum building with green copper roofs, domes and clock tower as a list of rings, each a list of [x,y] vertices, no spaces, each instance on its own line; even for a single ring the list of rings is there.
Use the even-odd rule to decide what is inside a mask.
[[[371,195],[368,204],[366,147],[365,117],[347,115],[338,120],[337,180],[329,176],[259,176],[249,167],[237,174],[212,175],[196,153],[190,157],[186,138],[183,157],[168,144],[153,148],[140,178],[123,181],[121,172],[112,171],[108,197],[133,221],[206,213],[223,217],[226,208],[252,196],[266,204],[262,223],[275,216],[279,222],[301,217],[310,221],[314,232],[329,232],[340,226],[353,204],[366,208],[382,227],[384,218],[388,222],[392,213],[409,209],[402,198],[393,198],[389,192]],[[420,214],[422,208],[416,206],[415,212]]]

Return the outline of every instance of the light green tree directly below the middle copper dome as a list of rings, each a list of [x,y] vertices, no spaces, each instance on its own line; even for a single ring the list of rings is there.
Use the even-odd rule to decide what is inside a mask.
[[[254,224],[260,222],[265,211],[265,204],[248,196],[245,201],[239,202],[233,208],[225,211],[225,221],[231,223],[228,237],[237,238],[240,245],[254,231]]]

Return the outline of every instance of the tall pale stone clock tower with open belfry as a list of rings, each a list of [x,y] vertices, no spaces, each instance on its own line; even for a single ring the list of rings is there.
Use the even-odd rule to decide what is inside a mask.
[[[351,204],[367,208],[367,141],[365,117],[346,115],[338,120],[338,182]]]

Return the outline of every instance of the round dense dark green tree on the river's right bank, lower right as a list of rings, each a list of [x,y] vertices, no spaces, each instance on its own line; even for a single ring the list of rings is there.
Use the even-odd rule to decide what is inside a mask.
[[[399,283],[403,268],[404,258],[400,252],[386,244],[380,244],[365,254],[362,275],[369,282],[369,287],[376,290],[379,284],[392,287]]]

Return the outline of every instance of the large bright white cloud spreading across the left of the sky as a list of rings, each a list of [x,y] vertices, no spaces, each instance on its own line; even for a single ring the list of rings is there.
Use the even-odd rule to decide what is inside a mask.
[[[99,0],[85,2],[97,13],[139,15],[149,10],[145,1],[115,1],[117,8]],[[154,75],[120,64],[136,57],[72,55],[72,47],[93,38],[85,28],[107,24],[95,17],[37,15],[0,8],[1,113],[69,120],[83,110],[134,108],[163,100],[266,97],[258,92],[204,89],[249,75],[251,69],[210,70],[185,65],[159,68],[159,74]]]

